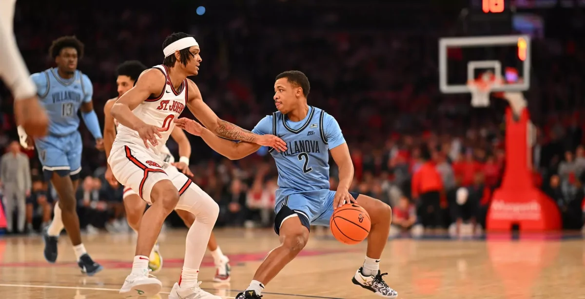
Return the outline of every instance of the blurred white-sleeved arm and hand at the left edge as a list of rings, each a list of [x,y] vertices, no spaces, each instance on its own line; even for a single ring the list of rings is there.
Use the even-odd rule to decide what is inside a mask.
[[[13,32],[16,0],[0,1],[0,78],[15,98],[14,115],[19,135],[39,138],[47,135],[49,117],[40,105]]]

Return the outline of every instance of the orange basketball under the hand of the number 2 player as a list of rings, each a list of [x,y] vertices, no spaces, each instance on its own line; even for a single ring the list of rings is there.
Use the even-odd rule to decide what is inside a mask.
[[[370,215],[359,205],[345,204],[333,211],[329,226],[335,239],[354,245],[362,242],[370,233]]]

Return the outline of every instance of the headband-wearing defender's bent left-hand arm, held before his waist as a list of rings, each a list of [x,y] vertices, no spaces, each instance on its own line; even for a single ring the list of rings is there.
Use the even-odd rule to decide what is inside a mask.
[[[150,142],[153,146],[157,146],[159,142],[155,136],[162,138],[163,136],[160,135],[160,132],[163,132],[165,129],[157,128],[157,126],[143,122],[142,119],[132,113],[132,110],[145,99],[149,98],[150,95],[160,94],[165,84],[166,78],[164,78],[164,74],[161,71],[155,70],[154,68],[146,70],[140,74],[136,85],[123,94],[122,97],[118,98],[118,101],[113,104],[110,111],[112,117],[118,120],[119,123],[138,132],[146,148],[149,147],[147,142]]]

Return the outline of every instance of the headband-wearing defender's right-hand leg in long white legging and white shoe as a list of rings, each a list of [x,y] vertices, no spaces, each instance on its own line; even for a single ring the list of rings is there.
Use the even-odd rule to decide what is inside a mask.
[[[176,209],[188,211],[195,217],[185,240],[185,262],[178,283],[174,284],[169,299],[199,298],[221,299],[221,297],[209,294],[199,288],[198,274],[203,256],[205,255],[205,243],[209,240],[211,231],[219,214],[219,205],[205,193],[198,185],[195,185],[184,174],[173,178],[173,184],[177,187],[180,200]]]

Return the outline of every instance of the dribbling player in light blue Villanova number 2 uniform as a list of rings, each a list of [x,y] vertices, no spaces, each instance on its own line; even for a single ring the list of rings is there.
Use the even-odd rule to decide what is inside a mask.
[[[387,204],[363,194],[350,193],[353,163],[338,122],[319,108],[307,105],[309,80],[300,71],[276,77],[274,102],[277,112],[263,118],[252,130],[280,136],[288,150],[270,150],[278,169],[274,231],[280,246],[271,250],[246,291],[236,299],[259,299],[264,286],[304,248],[311,225],[329,226],[333,210],[347,202],[362,206],[371,218],[366,259],[352,282],[384,298],[397,297],[380,273],[380,257],[388,241],[392,211]],[[177,126],[203,138],[216,152],[230,159],[242,159],[259,145],[221,139],[191,119],[181,118]],[[339,187],[329,190],[329,152],[339,167]]]

